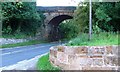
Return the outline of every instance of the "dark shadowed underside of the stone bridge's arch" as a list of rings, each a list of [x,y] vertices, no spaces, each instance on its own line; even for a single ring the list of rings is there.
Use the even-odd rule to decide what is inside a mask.
[[[58,15],[54,18],[52,18],[48,25],[50,26],[50,31],[49,31],[49,40],[50,41],[58,41],[59,39],[61,39],[61,35],[59,33],[59,24],[67,19],[72,19],[73,17],[70,15]]]

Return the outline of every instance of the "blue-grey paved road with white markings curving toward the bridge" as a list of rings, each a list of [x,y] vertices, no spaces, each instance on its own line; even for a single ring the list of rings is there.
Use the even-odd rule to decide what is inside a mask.
[[[2,54],[0,55],[0,58],[2,58],[2,65],[0,64],[0,67],[13,65],[23,60],[29,60],[35,56],[49,52],[51,46],[59,44],[60,43],[45,43],[1,49],[0,51],[2,51]]]

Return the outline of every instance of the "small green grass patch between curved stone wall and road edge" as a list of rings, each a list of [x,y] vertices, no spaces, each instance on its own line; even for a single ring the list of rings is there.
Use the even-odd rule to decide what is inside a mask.
[[[49,61],[49,54],[42,56],[41,58],[39,58],[38,62],[37,62],[37,70],[42,70],[42,71],[59,71],[60,68],[58,67],[54,67],[50,61]]]

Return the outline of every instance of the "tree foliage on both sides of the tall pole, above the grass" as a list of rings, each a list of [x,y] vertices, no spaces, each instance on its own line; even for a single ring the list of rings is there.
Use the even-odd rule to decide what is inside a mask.
[[[120,2],[92,3],[93,33],[120,31]],[[74,12],[73,23],[79,26],[79,32],[88,33],[89,3],[80,3]]]

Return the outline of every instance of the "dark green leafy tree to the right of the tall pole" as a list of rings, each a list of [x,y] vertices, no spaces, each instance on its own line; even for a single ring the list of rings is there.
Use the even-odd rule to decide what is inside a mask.
[[[104,31],[120,31],[120,2],[103,2],[94,5],[98,6],[95,10],[96,25]]]

